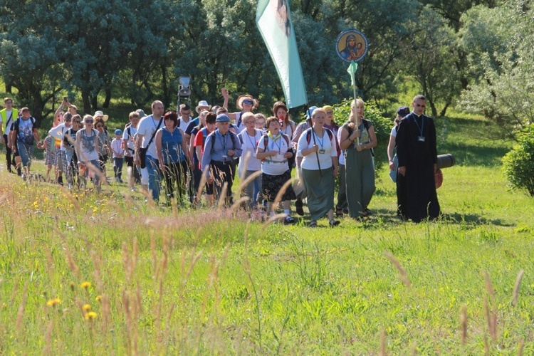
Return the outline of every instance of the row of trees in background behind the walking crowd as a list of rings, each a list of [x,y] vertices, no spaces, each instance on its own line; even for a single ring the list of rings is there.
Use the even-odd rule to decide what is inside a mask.
[[[41,119],[59,93],[83,112],[112,98],[145,107],[175,102],[189,75],[192,100],[220,102],[220,90],[250,93],[268,107],[283,99],[256,28],[251,0],[5,0],[0,5],[0,75],[19,105]],[[290,2],[310,105],[352,96],[337,34],[369,39],[358,95],[382,108],[405,78],[419,85],[431,115],[451,105],[483,112],[503,135],[532,122],[534,10],[526,0],[293,0]],[[413,83],[413,82],[412,82]],[[48,108],[48,110],[46,109]]]

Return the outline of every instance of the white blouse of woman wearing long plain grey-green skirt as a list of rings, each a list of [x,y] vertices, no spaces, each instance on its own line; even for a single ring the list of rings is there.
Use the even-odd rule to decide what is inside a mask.
[[[328,132],[326,132],[326,130],[327,129],[323,128],[323,137],[315,135],[315,131],[313,130],[313,128],[305,130],[302,135],[300,135],[297,145],[297,155],[299,157],[304,157],[302,163],[300,164],[300,167],[302,167],[303,169],[316,171],[319,169],[319,163],[321,169],[332,167],[332,157],[337,157],[337,151],[335,149],[335,137],[334,134],[332,134],[332,140],[330,140],[330,137],[328,136]],[[307,140],[308,131],[311,131],[309,143]],[[315,154],[315,152],[312,152],[307,156],[303,156],[303,150],[313,147],[314,138],[315,144],[319,146],[319,151],[317,152],[317,154]],[[317,157],[319,157],[319,163]]]

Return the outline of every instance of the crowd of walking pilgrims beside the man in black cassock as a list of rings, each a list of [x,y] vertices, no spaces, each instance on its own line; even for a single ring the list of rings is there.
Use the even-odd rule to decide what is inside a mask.
[[[304,214],[305,202],[310,227],[318,226],[323,217],[329,226],[337,226],[338,216],[364,219],[370,214],[368,205],[375,192],[372,149],[377,137],[372,122],[364,117],[362,100],[352,102],[350,117],[341,126],[328,105],[309,108],[297,125],[282,102],[274,103],[272,115],[263,115],[254,113],[256,98],[241,95],[236,100],[239,111],[229,112],[229,93],[223,89],[222,95],[221,106],[201,100],[194,108],[195,118],[187,104],[180,105],[179,112],[165,112],[163,104],[155,101],[150,115],[141,109],[130,112],[127,125],[111,131],[113,137],[106,127],[108,115],[97,111],[82,117],[75,105],[63,100],[43,141],[28,108],[19,114],[9,108],[6,100],[11,99],[6,98],[4,106],[10,109],[11,119],[20,116],[9,127],[7,117],[2,117],[7,166],[11,171],[14,165],[27,179],[35,143],[45,150],[47,179],[54,169],[53,179],[69,189],[93,184],[100,192],[103,182],[112,180],[106,177],[110,162],[116,183],[125,183],[132,191],[142,189],[155,201],[164,196],[169,205],[176,201],[213,206],[224,199],[230,206],[237,176],[244,187],[240,195],[247,198],[242,199],[244,209],[261,219],[283,216],[281,222],[293,224],[291,201],[299,215]],[[409,114],[408,108],[402,110],[400,117]],[[4,111],[0,113],[5,115]],[[393,147],[390,144],[388,155]],[[283,214],[276,215],[277,209]]]

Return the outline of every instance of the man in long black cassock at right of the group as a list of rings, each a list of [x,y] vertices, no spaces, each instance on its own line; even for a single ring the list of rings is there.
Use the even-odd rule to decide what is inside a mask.
[[[397,204],[400,216],[414,222],[439,216],[434,173],[437,170],[436,127],[423,114],[426,99],[417,95],[414,110],[404,117],[397,131]]]

